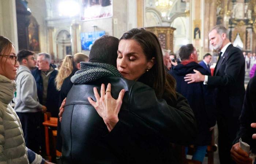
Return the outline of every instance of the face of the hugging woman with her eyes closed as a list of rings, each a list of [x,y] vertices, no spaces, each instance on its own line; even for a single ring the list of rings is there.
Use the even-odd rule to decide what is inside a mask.
[[[133,39],[123,39],[117,50],[117,69],[128,80],[137,80],[154,65],[154,59],[146,59],[142,47]]]

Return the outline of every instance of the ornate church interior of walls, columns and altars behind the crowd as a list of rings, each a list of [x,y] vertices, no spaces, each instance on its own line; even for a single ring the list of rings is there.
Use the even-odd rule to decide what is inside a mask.
[[[0,22],[0,35],[12,41],[17,53],[47,52],[57,67],[67,55],[89,56],[102,35],[119,39],[132,28],[144,27],[177,58],[186,44],[193,44],[198,61],[211,54],[214,70],[219,52],[208,35],[217,25],[224,26],[233,46],[244,52],[245,88],[256,64],[256,0],[0,0]],[[54,122],[44,125],[49,155],[56,144],[57,120],[46,115],[44,119]],[[217,125],[214,133],[203,164],[219,164]],[[58,163],[61,153],[53,154],[48,159]]]

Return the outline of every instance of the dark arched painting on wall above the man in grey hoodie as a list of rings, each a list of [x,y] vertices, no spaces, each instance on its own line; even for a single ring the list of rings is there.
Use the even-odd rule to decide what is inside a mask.
[[[35,17],[33,16],[30,16],[28,32],[29,32],[29,50],[39,52],[40,51],[39,25],[35,20]]]

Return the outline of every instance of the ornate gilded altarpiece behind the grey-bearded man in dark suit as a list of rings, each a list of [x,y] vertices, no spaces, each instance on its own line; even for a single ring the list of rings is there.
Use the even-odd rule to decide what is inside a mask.
[[[243,51],[256,50],[256,0],[217,0],[217,23],[229,29],[233,43],[237,34],[242,40]]]

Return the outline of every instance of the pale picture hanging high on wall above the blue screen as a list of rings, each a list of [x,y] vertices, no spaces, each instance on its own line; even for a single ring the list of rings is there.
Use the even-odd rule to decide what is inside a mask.
[[[81,20],[101,19],[113,16],[113,0],[82,0]]]

